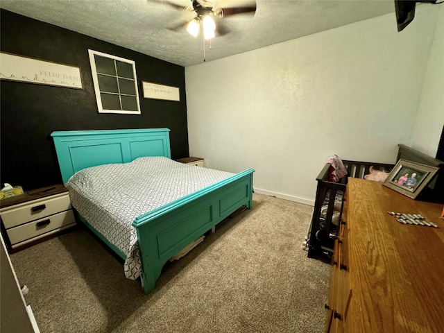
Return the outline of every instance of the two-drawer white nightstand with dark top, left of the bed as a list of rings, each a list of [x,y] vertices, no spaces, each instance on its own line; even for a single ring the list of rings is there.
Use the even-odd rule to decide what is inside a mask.
[[[65,186],[54,185],[0,200],[3,234],[12,250],[37,243],[76,225]]]

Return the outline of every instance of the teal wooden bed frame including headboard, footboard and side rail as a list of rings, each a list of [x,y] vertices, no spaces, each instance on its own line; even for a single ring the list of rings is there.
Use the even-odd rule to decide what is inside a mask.
[[[63,183],[77,171],[101,164],[125,163],[144,156],[171,158],[168,128],[137,130],[74,130],[51,133]],[[155,288],[164,264],[239,207],[253,205],[253,172],[247,169],[188,196],[138,216],[142,285]],[[78,213],[77,213],[78,214]],[[123,259],[126,255],[78,217]]]

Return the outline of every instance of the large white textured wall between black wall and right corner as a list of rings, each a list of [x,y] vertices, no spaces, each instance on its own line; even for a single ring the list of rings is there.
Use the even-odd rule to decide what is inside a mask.
[[[190,155],[253,167],[255,189],[307,203],[332,154],[395,162],[397,144],[411,142],[436,24],[421,7],[402,33],[393,13],[186,67]]]

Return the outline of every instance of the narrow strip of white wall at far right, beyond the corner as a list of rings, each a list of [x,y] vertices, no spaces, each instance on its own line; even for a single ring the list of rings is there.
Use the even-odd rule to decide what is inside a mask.
[[[444,126],[444,4],[439,5],[438,21],[420,95],[411,147],[436,156]]]

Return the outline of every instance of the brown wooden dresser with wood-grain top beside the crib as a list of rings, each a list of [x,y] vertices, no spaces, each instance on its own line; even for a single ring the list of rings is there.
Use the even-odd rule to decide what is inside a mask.
[[[334,245],[325,332],[444,332],[443,205],[350,178]],[[387,211],[439,228],[404,225]]]

